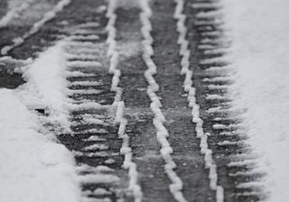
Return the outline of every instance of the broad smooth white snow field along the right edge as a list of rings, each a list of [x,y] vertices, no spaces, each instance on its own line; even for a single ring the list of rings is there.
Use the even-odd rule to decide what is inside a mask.
[[[289,1],[223,0],[232,37],[235,106],[260,155],[268,201],[289,198]]]

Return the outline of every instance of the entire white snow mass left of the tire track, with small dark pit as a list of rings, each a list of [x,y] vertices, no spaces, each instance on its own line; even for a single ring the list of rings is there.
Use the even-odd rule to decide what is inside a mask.
[[[73,155],[42,126],[69,128],[64,65],[60,43],[23,69],[26,84],[0,89],[0,201],[79,201]]]

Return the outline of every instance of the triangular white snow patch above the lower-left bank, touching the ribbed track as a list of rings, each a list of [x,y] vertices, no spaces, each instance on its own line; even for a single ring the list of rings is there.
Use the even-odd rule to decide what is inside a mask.
[[[42,108],[47,111],[52,122],[61,124],[69,131],[69,109],[66,104],[67,80],[66,60],[63,53],[64,42],[42,52],[23,73],[28,82],[20,87],[19,94],[29,108]],[[61,129],[60,128],[60,129]]]

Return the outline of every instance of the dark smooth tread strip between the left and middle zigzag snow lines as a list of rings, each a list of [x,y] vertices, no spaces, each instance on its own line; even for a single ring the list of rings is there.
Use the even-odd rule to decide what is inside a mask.
[[[122,71],[120,87],[124,89],[126,102],[126,133],[130,137],[133,161],[137,165],[139,184],[143,191],[143,201],[173,201],[170,194],[170,180],[163,170],[160,146],[155,137],[153,114],[149,108],[150,99],[145,90],[146,69],[142,60],[142,24],[138,4],[124,4],[117,7],[117,50],[118,69]]]

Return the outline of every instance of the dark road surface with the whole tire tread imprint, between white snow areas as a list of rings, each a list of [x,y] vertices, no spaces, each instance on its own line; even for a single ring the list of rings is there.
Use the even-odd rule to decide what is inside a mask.
[[[230,107],[217,1],[51,2],[63,3],[51,19],[1,27],[0,48],[26,60],[66,41],[77,107],[71,133],[58,136],[75,155],[83,201],[262,199],[242,112]],[[0,5],[4,16],[7,1]],[[24,82],[0,73],[1,87]]]

